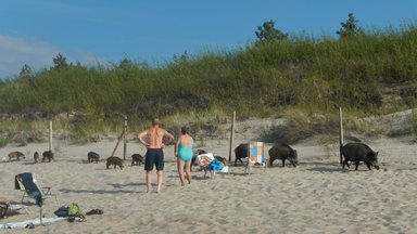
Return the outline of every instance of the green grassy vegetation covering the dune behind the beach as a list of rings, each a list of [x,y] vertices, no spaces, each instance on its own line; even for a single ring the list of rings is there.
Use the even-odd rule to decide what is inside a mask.
[[[288,109],[337,115],[343,106],[363,117],[417,104],[413,24],[354,37],[286,35],[230,51],[175,55],[164,65],[125,58],[85,66],[62,54],[53,63],[37,72],[25,65],[18,76],[0,80],[0,142],[23,129],[39,135],[50,119],[65,135],[96,139],[122,130],[124,116],[135,131],[154,116],[172,129],[185,122],[208,128],[227,122],[232,110],[238,118],[286,117],[294,114]]]

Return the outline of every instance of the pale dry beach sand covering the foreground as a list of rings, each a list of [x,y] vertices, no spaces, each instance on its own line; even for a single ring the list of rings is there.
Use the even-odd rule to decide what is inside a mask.
[[[236,145],[255,138],[250,129],[244,132],[237,135]],[[114,140],[87,145],[56,142],[56,160],[37,165],[31,155],[47,150],[47,144],[9,145],[0,150],[0,158],[12,151],[29,156],[0,164],[0,196],[18,200],[14,176],[29,171],[58,195],[59,205],[49,199],[47,213],[72,202],[86,211],[104,210],[102,216],[87,217],[87,222],[62,221],[37,226],[31,233],[417,233],[416,145],[409,142],[406,138],[367,141],[380,152],[381,170],[367,171],[361,165],[354,171],[341,169],[337,145],[324,147],[311,139],[293,145],[299,152],[298,168],[282,168],[276,161],[266,172],[254,169],[248,177],[239,166],[214,179],[195,171],[192,184],[186,187],[179,186],[169,146],[165,150],[162,194],[144,193],[143,168],[130,166],[130,157],[123,170],[105,169],[104,159],[115,146]],[[227,156],[228,141],[207,140],[201,148]],[[128,156],[144,154],[135,140],[127,150]],[[89,151],[98,152],[102,160],[87,164]],[[122,155],[121,146],[116,155]],[[28,210],[0,223],[37,217],[36,206]]]

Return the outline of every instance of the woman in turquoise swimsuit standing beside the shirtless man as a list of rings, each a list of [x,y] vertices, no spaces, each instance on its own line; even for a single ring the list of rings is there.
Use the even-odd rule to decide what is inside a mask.
[[[189,134],[187,127],[181,128],[181,135],[178,138],[177,144],[175,145],[175,156],[177,157],[177,167],[179,180],[181,186],[184,183],[184,170],[186,170],[188,184],[191,184],[191,159],[192,159],[192,143],[193,139]]]

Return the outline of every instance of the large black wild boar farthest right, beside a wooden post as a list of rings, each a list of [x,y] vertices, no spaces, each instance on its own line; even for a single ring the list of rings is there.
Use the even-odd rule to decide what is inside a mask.
[[[370,166],[375,167],[379,170],[378,166],[378,152],[374,152],[368,145],[363,143],[348,143],[341,148],[343,159],[343,169],[344,166],[350,167],[348,161],[355,162],[355,170],[359,166],[359,161],[364,161],[368,169],[370,170]]]

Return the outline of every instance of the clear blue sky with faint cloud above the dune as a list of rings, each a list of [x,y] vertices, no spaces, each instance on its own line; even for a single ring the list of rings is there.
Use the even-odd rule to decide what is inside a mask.
[[[0,78],[62,53],[84,65],[231,51],[273,20],[289,34],[334,36],[353,13],[363,28],[416,22],[415,0],[0,0]]]

